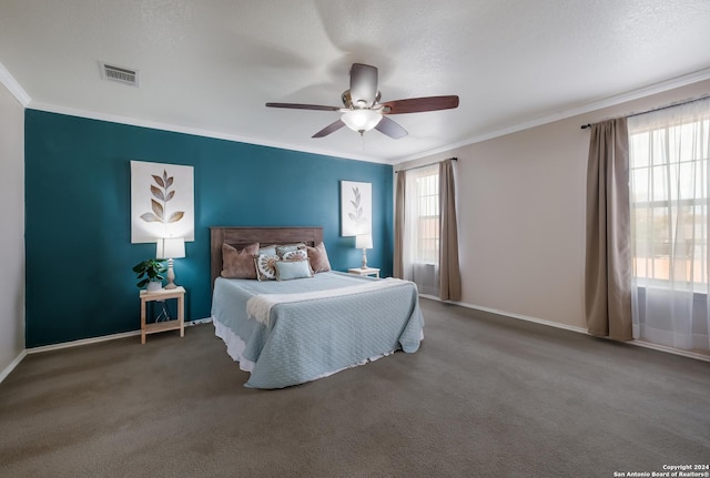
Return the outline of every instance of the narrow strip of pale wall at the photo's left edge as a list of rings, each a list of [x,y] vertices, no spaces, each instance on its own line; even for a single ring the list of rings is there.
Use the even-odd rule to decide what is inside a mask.
[[[24,108],[0,83],[0,379],[24,350]]]

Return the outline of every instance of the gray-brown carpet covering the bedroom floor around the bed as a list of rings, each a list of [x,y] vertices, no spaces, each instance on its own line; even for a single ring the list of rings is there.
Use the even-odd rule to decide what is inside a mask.
[[[710,461],[710,364],[423,299],[425,342],[283,390],[211,324],[28,356],[2,477],[612,477]]]

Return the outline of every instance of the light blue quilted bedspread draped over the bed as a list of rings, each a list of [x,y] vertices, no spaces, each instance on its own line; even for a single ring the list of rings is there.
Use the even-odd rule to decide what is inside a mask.
[[[378,279],[337,272],[284,282],[217,278],[212,318],[232,358],[251,372],[245,386],[283,388],[398,348],[416,352],[424,317],[416,286],[406,281],[382,291],[277,304],[268,326],[246,315],[246,302],[256,294],[298,294],[365,281]]]

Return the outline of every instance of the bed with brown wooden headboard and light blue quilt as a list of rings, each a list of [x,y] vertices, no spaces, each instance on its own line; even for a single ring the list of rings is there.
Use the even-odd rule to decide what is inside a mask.
[[[280,281],[223,277],[226,254],[256,243],[325,253],[321,227],[211,227],[212,323],[230,357],[250,373],[244,386],[284,388],[419,348],[424,317],[413,283],[335,271],[283,273]],[[294,264],[285,262],[277,265],[288,272]]]

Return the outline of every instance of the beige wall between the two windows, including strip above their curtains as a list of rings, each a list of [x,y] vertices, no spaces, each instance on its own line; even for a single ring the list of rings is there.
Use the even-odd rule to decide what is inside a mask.
[[[586,329],[580,125],[710,94],[710,81],[438,153],[456,156],[462,302]]]

